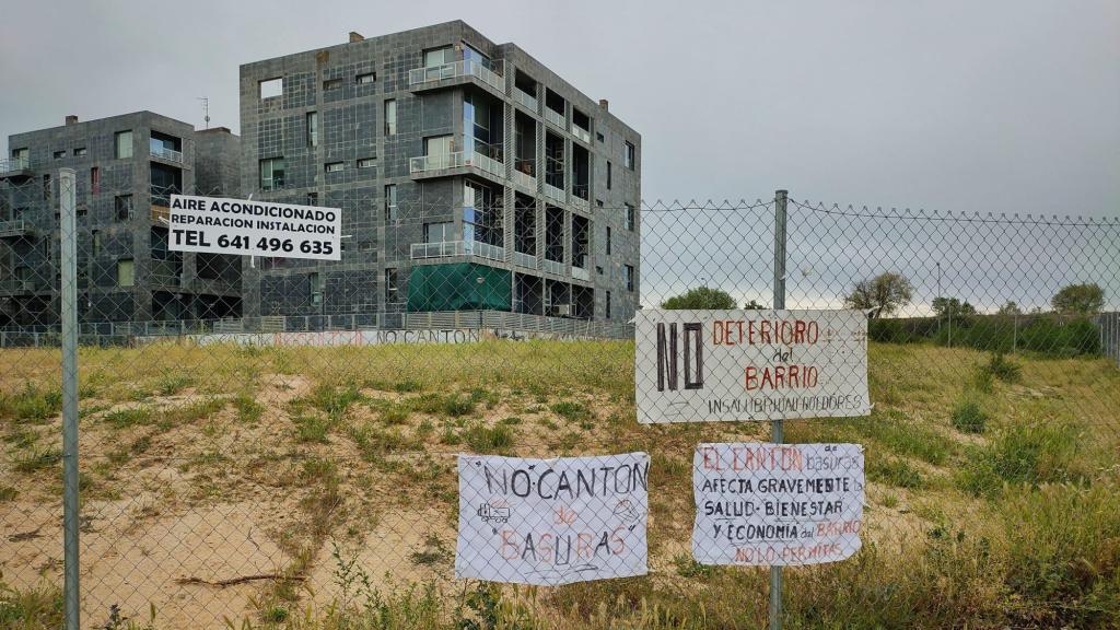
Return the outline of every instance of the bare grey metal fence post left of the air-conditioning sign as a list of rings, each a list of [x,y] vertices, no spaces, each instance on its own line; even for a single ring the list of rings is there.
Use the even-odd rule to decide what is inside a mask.
[[[77,217],[73,168],[58,172],[63,344],[63,599],[66,630],[78,630]]]

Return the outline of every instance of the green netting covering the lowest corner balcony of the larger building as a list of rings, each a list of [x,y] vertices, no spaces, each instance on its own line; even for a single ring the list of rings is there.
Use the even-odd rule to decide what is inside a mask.
[[[422,265],[409,276],[409,312],[510,311],[512,275],[474,262]]]

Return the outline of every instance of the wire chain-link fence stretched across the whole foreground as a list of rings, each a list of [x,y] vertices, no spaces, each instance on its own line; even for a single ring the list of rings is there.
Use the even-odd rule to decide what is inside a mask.
[[[766,569],[690,540],[693,475],[715,470],[698,446],[763,448],[771,426],[640,425],[633,318],[776,317],[774,200],[463,213],[339,193],[315,200],[347,212],[342,262],[320,263],[171,251],[165,206],[83,211],[77,179],[83,627],[765,623]],[[58,627],[65,291],[59,220],[35,209],[59,191],[13,189],[37,203],[9,194],[0,228],[0,621]],[[787,207],[785,307],[869,314],[871,407],[784,424],[792,445],[860,445],[867,482],[855,511],[804,508],[853,556],[785,571],[786,627],[1120,623],[1120,223]],[[797,448],[765,457],[833,453]],[[459,454],[539,461],[492,462],[467,494]],[[596,455],[617,461],[551,460]],[[729,524],[776,483],[758,462]],[[561,504],[507,530],[521,493]],[[609,518],[580,517],[592,499]],[[484,555],[456,557],[460,519],[492,532]],[[758,559],[738,562],[777,562]],[[498,585],[457,577],[468,560],[522,584],[633,576]]]

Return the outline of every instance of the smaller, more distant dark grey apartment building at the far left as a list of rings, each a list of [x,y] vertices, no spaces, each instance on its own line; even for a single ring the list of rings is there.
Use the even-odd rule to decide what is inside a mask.
[[[172,193],[241,195],[240,141],[142,111],[9,136],[0,160],[0,325],[58,323],[58,169],[76,175],[82,322],[241,315],[241,260],[168,249]]]

